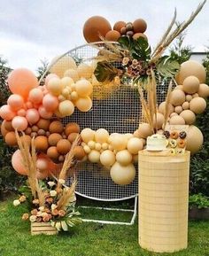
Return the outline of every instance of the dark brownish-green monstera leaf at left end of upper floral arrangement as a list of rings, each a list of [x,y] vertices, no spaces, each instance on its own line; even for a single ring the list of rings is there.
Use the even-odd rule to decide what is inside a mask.
[[[118,70],[111,63],[101,61],[97,63],[94,74],[97,77],[97,81],[112,81],[118,74]]]

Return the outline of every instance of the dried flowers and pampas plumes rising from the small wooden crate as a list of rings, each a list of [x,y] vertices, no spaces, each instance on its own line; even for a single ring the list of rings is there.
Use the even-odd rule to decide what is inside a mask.
[[[50,182],[43,182],[36,178],[36,153],[34,138],[29,145],[25,135],[19,137],[16,131],[19,150],[22,155],[23,165],[27,167],[27,186],[19,189],[21,196],[13,201],[14,206],[27,203],[28,213],[22,215],[22,220],[31,222],[49,222],[52,227],[67,231],[69,227],[81,222],[80,213],[74,209],[76,180],[71,186],[66,186],[68,169],[74,161],[74,148],[79,144],[80,137],[77,136],[67,153],[58,177],[52,175]]]

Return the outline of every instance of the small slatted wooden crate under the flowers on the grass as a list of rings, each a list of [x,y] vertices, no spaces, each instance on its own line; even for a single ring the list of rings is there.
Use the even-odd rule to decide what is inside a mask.
[[[50,222],[31,222],[31,235],[57,235],[58,229],[52,227]]]

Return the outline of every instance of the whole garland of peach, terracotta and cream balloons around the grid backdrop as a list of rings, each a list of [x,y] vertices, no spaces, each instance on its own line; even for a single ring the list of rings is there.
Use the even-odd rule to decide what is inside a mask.
[[[127,43],[127,39],[124,39],[127,37],[128,40],[132,38],[140,44],[145,42],[141,38],[145,37],[143,32],[146,27],[143,19],[136,19],[133,24],[116,22],[111,30],[106,19],[92,17],[85,23],[83,34],[88,42],[99,41],[99,33],[106,40],[116,41],[120,35],[124,35],[121,42]],[[127,68],[129,75],[136,75],[136,79],[140,75],[148,77],[149,69],[156,68],[148,66],[144,69],[145,73],[140,70],[140,74],[135,74],[135,65],[139,63],[135,61],[135,64],[132,60],[130,70],[129,61],[123,58],[122,65]],[[129,184],[135,179],[134,163],[137,162],[137,153],[144,149],[146,138],[153,134],[151,125],[144,121],[134,134],[111,135],[104,128],[97,131],[90,128],[80,130],[77,123],[64,126],[60,119],[71,116],[75,107],[81,112],[91,109],[94,87],[112,82],[105,79],[98,81],[101,71],[106,71],[101,64],[98,66],[98,62],[93,61],[92,65],[81,63],[77,66],[74,58],[63,56],[55,58],[52,63],[50,74],[46,76],[42,86],[39,85],[35,74],[26,68],[13,70],[9,75],[8,85],[12,95],[8,98],[7,105],[0,108],[0,116],[4,119],[1,133],[6,144],[17,145],[15,130],[19,131],[19,134],[24,132],[27,135],[28,144],[31,137],[35,137],[35,148],[38,152],[36,165],[39,170],[37,176],[43,179],[50,175],[49,171],[58,169],[58,164],[64,161],[75,137],[81,134],[81,145],[74,149],[75,158],[101,164],[110,169],[113,182],[120,185]],[[170,74],[174,74],[175,70],[177,68],[169,70]],[[109,71],[111,72],[111,68]],[[113,78],[117,79],[115,74]],[[107,77],[108,73],[104,73],[103,78]],[[166,105],[165,101],[158,106],[155,127],[158,133],[163,132],[166,112],[168,124],[189,125],[187,150],[195,153],[203,144],[203,135],[193,124],[196,114],[205,111],[205,98],[209,96],[209,87],[205,84],[205,68],[196,61],[186,61],[182,63],[175,80],[177,85],[170,94],[169,105]],[[120,79],[116,84],[119,83]],[[19,150],[12,156],[12,166],[20,175],[27,175],[27,170],[21,164]]]

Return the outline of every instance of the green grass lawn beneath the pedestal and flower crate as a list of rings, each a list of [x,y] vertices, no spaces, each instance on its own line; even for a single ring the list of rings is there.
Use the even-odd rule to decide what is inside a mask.
[[[89,205],[81,199],[78,204]],[[128,206],[129,203],[123,204]],[[104,203],[99,205],[104,206]],[[117,219],[115,212],[80,210],[85,218],[91,213],[97,218],[99,214],[103,219]],[[209,256],[208,221],[190,221],[187,250],[159,254],[139,247],[137,221],[133,226],[85,222],[69,233],[32,237],[29,222],[21,221],[22,213],[24,208],[12,206],[12,199],[0,202],[0,256]],[[125,215],[124,218],[127,221],[129,216]]]

